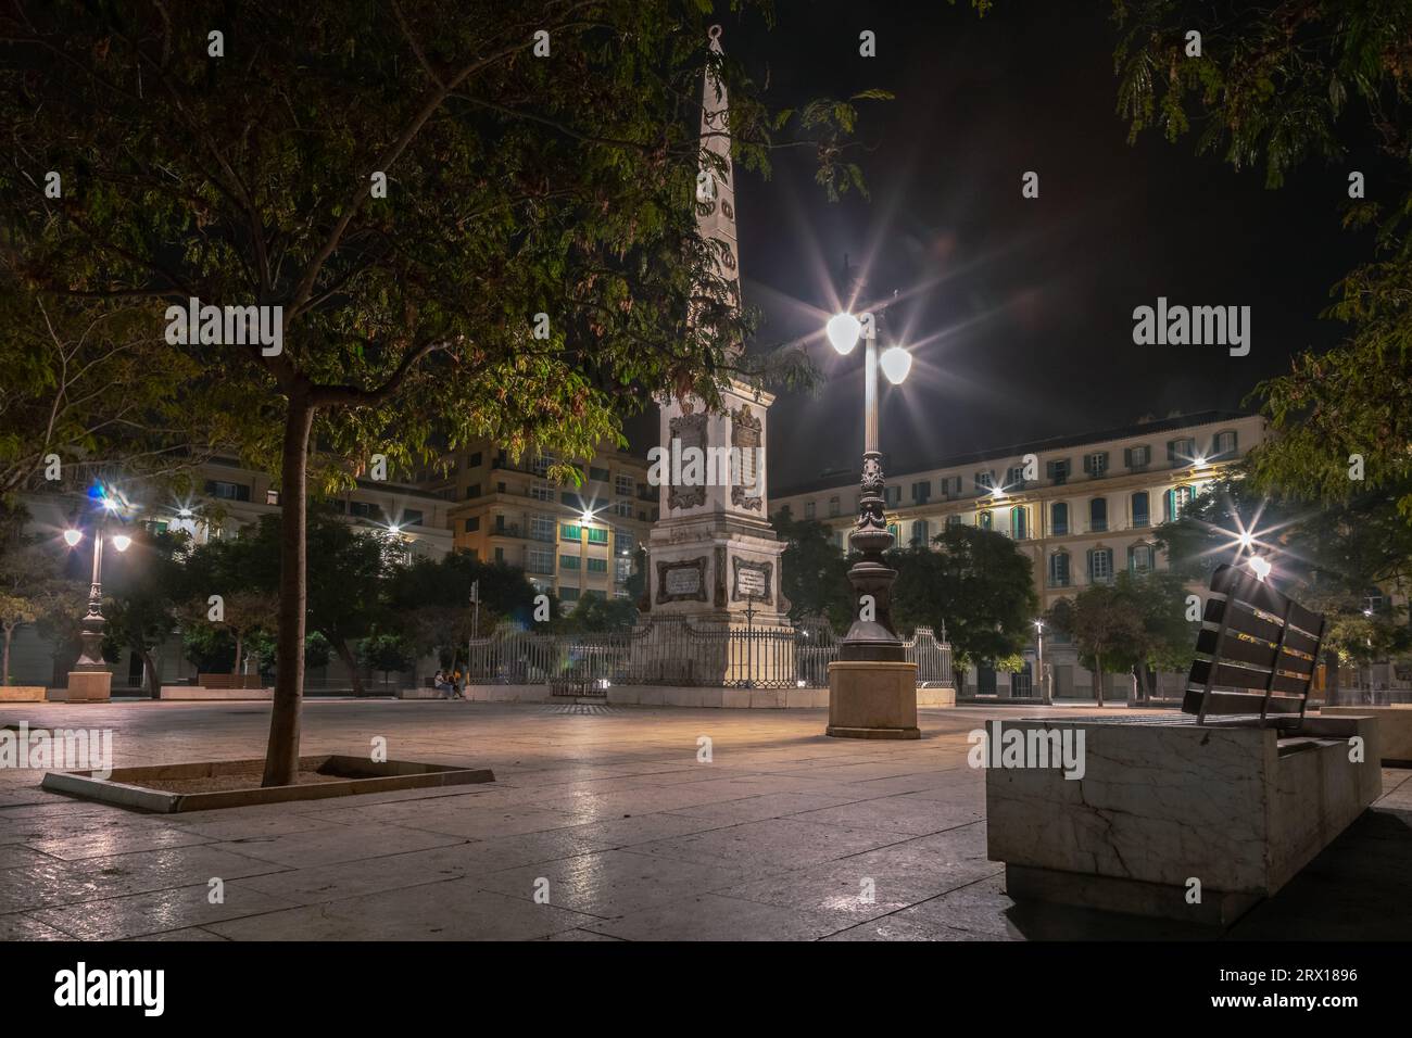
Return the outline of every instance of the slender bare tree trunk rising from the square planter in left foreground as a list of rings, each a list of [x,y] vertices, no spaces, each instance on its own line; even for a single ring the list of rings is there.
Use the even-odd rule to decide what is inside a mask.
[[[289,391],[280,472],[280,636],[275,648],[270,746],[261,785],[292,785],[299,771],[299,710],[304,698],[305,520],[308,517],[308,452],[313,407],[306,390]]]

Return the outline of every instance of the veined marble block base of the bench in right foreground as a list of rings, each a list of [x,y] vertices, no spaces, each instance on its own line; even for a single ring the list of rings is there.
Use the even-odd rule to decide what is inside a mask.
[[[1017,900],[1228,925],[1382,787],[1370,717],[1309,717],[1298,733],[1151,717],[990,720],[987,747],[1014,743],[1014,730],[1031,746],[1082,746],[1076,765],[1067,758],[1073,778],[1055,761],[1035,765],[1034,753],[1010,764],[984,756],[987,856],[1005,863]]]

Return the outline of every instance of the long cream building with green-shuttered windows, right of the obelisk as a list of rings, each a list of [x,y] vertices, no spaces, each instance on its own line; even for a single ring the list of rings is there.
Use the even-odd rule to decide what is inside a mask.
[[[1265,436],[1258,415],[1203,412],[952,458],[888,472],[887,520],[899,545],[931,544],[953,524],[1011,537],[1032,561],[1035,592],[1048,610],[1123,569],[1165,568],[1152,528],[1179,517]],[[847,551],[857,496],[857,480],[839,476],[785,490],[775,503],[794,518],[830,527],[839,549]],[[1017,689],[1038,674],[1035,648]],[[1091,676],[1077,667],[1072,645],[1046,637],[1045,662],[1053,665],[1056,695],[1093,695]],[[976,676],[979,691],[998,688],[1004,695],[1004,675],[981,669]],[[1127,696],[1128,679],[1111,679],[1107,695]]]

